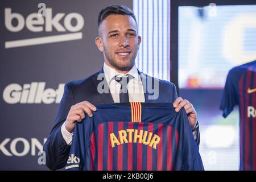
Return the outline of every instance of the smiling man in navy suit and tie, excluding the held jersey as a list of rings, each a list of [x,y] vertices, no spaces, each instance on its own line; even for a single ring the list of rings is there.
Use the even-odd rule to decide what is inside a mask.
[[[81,122],[86,114],[92,117],[92,111],[97,109],[94,105],[97,104],[172,102],[176,111],[182,107],[187,111],[194,137],[199,144],[197,114],[193,105],[177,97],[172,82],[150,77],[139,72],[135,66],[135,57],[141,44],[137,32],[137,21],[128,7],[112,5],[101,10],[98,16],[99,36],[95,42],[104,54],[104,67],[85,80],[71,81],[65,85],[55,125],[43,147],[49,169],[65,166],[75,122]]]

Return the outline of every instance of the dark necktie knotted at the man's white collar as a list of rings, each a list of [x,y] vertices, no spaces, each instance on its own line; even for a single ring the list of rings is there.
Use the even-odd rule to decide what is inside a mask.
[[[131,76],[131,75],[129,75],[127,77],[115,76],[115,81],[117,81],[121,85],[120,92],[119,92],[120,102],[129,102],[129,94],[128,94],[127,85],[132,78],[133,78],[133,76]]]

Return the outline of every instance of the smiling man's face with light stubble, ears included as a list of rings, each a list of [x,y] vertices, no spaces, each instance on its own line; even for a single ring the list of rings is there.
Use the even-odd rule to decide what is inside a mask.
[[[109,15],[100,25],[96,44],[104,53],[105,63],[118,71],[129,71],[141,43],[137,24],[129,15]]]

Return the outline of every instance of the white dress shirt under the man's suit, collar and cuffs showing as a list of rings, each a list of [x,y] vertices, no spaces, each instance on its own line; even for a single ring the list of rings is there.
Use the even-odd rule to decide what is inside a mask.
[[[128,73],[122,74],[122,73],[118,73],[117,71],[115,71],[115,69],[109,67],[108,65],[106,65],[106,63],[104,63],[103,71],[105,74],[106,81],[108,82],[110,93],[111,93],[113,101],[115,103],[120,102],[119,101],[119,92],[121,89],[121,84],[119,84],[117,81],[115,81],[114,77],[115,76],[126,77],[128,75],[133,76],[133,78],[131,78],[131,80],[127,84],[129,101],[130,102],[145,102],[143,85],[142,85],[141,77],[138,74],[136,65],[134,65],[134,67],[131,68],[131,70]],[[194,138],[196,138],[196,133],[197,133],[197,131],[193,132]],[[73,133],[69,133],[69,131],[65,128],[65,122],[61,126],[61,134],[63,135],[63,138],[67,144],[72,143]]]

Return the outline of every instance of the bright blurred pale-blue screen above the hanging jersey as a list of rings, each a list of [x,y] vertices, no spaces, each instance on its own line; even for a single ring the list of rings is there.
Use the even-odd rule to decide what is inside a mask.
[[[256,5],[179,7],[180,88],[220,89],[229,69],[256,59]]]

